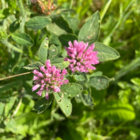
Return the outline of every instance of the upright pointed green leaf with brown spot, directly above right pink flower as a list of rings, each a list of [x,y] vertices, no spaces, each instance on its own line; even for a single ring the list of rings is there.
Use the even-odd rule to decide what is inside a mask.
[[[100,15],[97,11],[94,13],[81,28],[78,40],[83,42],[89,42],[92,44],[93,42],[97,41],[100,32]]]

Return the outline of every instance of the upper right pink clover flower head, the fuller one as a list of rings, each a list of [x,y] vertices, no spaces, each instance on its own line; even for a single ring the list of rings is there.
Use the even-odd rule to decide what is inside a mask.
[[[93,51],[95,45],[92,44],[88,47],[88,43],[77,42],[74,40],[72,44],[71,41],[68,42],[69,47],[65,47],[68,58],[65,61],[69,61],[69,69],[74,73],[75,71],[89,72],[90,70],[95,70],[93,66],[98,64],[97,51]]]

